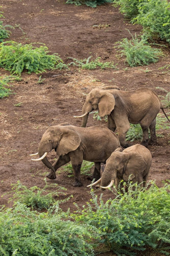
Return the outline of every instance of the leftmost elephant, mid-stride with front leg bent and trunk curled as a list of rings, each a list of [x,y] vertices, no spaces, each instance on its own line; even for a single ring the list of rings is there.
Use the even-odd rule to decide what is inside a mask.
[[[71,162],[75,182],[73,186],[81,187],[81,163],[83,160],[95,163],[94,173],[91,179],[100,178],[101,163],[105,163],[112,152],[120,147],[117,135],[104,126],[77,127],[64,123],[57,126],[50,126],[42,135],[39,143],[39,158],[34,161],[42,160],[50,172],[49,179],[56,179],[55,171],[66,163]],[[58,159],[53,165],[49,162],[46,155],[55,149]]]

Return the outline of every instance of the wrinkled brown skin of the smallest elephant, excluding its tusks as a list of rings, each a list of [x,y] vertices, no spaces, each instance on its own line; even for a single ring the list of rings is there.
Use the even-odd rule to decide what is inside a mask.
[[[126,182],[128,179],[132,182],[143,182],[141,187],[145,187],[151,163],[151,152],[141,144],[135,144],[124,151],[118,148],[106,161],[101,176],[101,187],[107,187],[110,181],[114,180],[118,188],[118,183],[122,179]]]

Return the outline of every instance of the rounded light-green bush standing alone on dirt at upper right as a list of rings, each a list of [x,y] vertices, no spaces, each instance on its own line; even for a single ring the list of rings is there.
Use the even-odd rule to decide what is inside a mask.
[[[137,38],[137,35],[132,35],[132,40],[123,38],[123,40],[118,41],[118,50],[121,56],[126,57],[126,63],[129,66],[143,66],[149,65],[149,63],[158,62],[160,56],[163,53],[160,49],[152,48],[146,38],[141,36],[141,39]]]

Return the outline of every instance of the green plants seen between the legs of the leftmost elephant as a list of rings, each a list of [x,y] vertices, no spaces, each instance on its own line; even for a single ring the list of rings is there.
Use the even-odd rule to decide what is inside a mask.
[[[81,174],[90,176],[92,174],[92,172],[90,171],[92,166],[94,166],[93,162],[88,162],[88,161],[83,160],[83,163],[81,165]],[[73,176],[73,168],[72,168],[71,163],[68,163],[67,165],[63,166],[61,169],[63,171],[69,172],[69,174],[68,174],[69,177]]]

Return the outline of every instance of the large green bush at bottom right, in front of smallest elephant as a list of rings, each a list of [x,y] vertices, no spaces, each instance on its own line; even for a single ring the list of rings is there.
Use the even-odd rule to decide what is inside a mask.
[[[118,191],[107,202],[92,190],[92,200],[83,210],[78,208],[73,219],[96,227],[100,243],[117,255],[136,255],[146,246],[161,251],[170,244],[170,185],[149,186],[143,191],[140,185],[129,183],[128,192]]]

